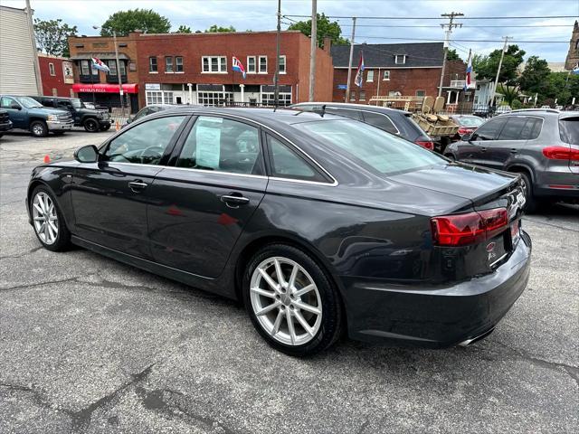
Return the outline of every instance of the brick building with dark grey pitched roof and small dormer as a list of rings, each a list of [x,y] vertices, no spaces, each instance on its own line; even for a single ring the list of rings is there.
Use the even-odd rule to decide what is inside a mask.
[[[344,102],[346,97],[349,45],[332,47],[334,60],[333,101]],[[354,84],[356,69],[364,53],[364,80],[362,87]],[[360,44],[354,46],[350,98],[346,102],[368,104],[373,96],[424,97],[437,96],[441,80],[443,45],[441,42]],[[447,61],[442,95],[445,98],[456,91],[451,81],[464,80],[466,65],[463,61]]]

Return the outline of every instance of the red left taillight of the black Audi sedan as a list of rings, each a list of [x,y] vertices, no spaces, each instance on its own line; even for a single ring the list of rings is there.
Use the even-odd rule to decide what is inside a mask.
[[[506,208],[432,217],[432,239],[439,246],[466,246],[489,240],[508,225]]]

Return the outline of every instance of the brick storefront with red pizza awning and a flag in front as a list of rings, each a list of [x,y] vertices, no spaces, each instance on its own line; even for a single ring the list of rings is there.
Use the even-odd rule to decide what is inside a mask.
[[[123,86],[123,102],[130,112],[136,113],[138,103],[138,55],[137,39],[140,33],[117,37],[120,79]],[[106,107],[120,107],[119,75],[115,62],[115,46],[112,37],[69,37],[71,61],[74,62],[72,89],[83,101],[95,102]],[[92,67],[96,57],[109,66],[110,73]]]

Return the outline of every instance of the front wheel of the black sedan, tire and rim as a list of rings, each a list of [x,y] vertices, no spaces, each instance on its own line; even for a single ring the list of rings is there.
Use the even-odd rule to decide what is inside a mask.
[[[31,194],[29,206],[34,233],[44,249],[68,250],[71,246],[71,232],[66,227],[61,209],[52,192],[43,185],[36,187]]]

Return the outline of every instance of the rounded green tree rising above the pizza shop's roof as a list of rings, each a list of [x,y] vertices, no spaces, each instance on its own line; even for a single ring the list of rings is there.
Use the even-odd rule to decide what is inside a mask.
[[[130,32],[142,30],[145,33],[168,33],[171,23],[168,18],[157,14],[152,9],[134,9],[119,11],[109,16],[100,27],[100,36],[127,36]]]

